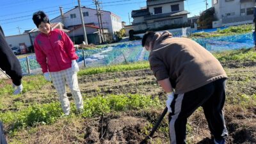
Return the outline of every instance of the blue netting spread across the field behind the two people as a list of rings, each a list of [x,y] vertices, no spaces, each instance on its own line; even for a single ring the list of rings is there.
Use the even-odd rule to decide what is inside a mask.
[[[223,51],[253,47],[252,33],[243,35],[220,36],[214,38],[195,39],[200,45],[209,51]],[[126,62],[148,60],[149,52],[141,47],[141,41],[124,42],[106,45],[103,49],[76,51],[79,59],[79,67],[99,67],[115,65]],[[41,72],[40,65],[36,62],[35,55],[19,59],[23,74],[38,74]]]

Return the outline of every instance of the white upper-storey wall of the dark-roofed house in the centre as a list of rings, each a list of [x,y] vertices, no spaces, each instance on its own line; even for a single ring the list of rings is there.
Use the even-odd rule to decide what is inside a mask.
[[[158,7],[162,7],[162,13],[170,13],[172,12],[172,8],[171,5],[175,5],[175,4],[179,4],[179,11],[183,11],[184,10],[184,3],[168,3],[168,4],[159,4],[159,5],[155,5],[155,6],[148,6],[148,10],[150,13],[152,13],[154,15],[154,8],[158,8]]]

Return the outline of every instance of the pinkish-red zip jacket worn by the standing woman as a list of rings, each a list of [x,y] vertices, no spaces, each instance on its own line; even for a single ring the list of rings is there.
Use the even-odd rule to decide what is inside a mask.
[[[34,42],[36,61],[42,72],[59,72],[71,67],[71,61],[77,54],[73,42],[60,29],[53,29],[49,35],[40,33]]]

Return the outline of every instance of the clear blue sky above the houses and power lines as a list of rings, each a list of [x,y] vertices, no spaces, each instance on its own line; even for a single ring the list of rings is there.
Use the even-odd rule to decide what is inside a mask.
[[[102,10],[110,11],[122,18],[129,24],[129,16],[131,18],[132,10],[139,10],[146,6],[146,0],[101,0]],[[211,6],[211,0],[207,0],[208,8]],[[184,1],[185,10],[190,12],[188,17],[199,15],[205,10],[204,0],[186,0]],[[77,0],[0,0],[0,25],[4,30],[6,36],[18,35],[25,30],[35,28],[33,20],[31,19],[34,12],[44,10],[50,19],[60,15],[59,7],[63,7],[63,11],[77,6]],[[81,0],[82,6],[95,8],[92,0]]]

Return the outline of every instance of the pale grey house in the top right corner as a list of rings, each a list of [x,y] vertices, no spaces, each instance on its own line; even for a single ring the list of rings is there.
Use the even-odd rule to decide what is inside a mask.
[[[212,0],[216,21],[213,28],[253,22],[255,0]]]

